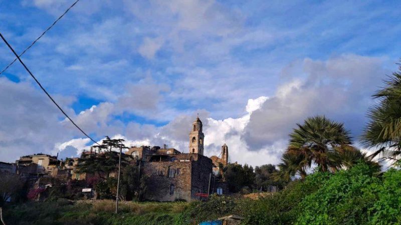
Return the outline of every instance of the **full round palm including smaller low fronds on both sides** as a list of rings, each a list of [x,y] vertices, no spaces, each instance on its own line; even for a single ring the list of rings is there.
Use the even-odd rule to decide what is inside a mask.
[[[378,166],[352,146],[352,138],[343,123],[314,116],[297,126],[278,165],[280,170],[274,175],[276,180],[289,181],[295,175],[305,178],[306,171],[314,164],[319,171],[331,172],[348,168],[359,160]]]

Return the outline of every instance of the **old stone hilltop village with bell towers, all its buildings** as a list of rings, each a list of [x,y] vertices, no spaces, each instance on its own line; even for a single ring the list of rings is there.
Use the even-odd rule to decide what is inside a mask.
[[[139,172],[147,177],[147,190],[144,199],[156,201],[173,201],[182,199],[190,201],[199,199],[205,193],[227,194],[228,184],[216,179],[221,169],[229,163],[227,144],[222,145],[221,157],[204,155],[202,121],[197,117],[189,132],[189,153],[182,153],[175,148],[159,146],[132,146],[124,154],[129,156],[129,163],[138,165]],[[97,157],[91,147],[84,150],[80,157],[59,160],[57,156],[33,154],[20,157],[16,163],[0,162],[0,171],[17,173],[26,181],[29,189],[46,189],[51,187],[51,178],[60,180],[77,180],[82,189],[87,188],[88,180],[97,174],[81,172],[78,165],[85,163],[88,157]],[[117,165],[110,176],[116,177]],[[49,180],[49,181],[46,181]],[[93,191],[92,189],[90,191]]]

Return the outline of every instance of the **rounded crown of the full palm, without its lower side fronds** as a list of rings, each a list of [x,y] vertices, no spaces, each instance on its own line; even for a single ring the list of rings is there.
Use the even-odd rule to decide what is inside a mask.
[[[305,168],[316,163],[321,171],[336,170],[338,163],[333,163],[330,155],[352,144],[344,124],[325,116],[314,116],[308,117],[304,124],[297,123],[297,126],[290,134],[287,152],[299,155]]]

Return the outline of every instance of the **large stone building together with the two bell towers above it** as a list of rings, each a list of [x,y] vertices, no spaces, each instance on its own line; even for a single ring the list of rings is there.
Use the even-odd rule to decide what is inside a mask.
[[[202,121],[197,117],[189,132],[189,153],[177,149],[158,146],[131,147],[127,154],[141,160],[143,172],[148,176],[148,200],[173,201],[177,199],[199,199],[199,193],[223,194],[228,191],[226,185],[218,184],[213,176],[213,159],[204,155]],[[222,158],[215,160],[228,163],[228,147],[222,146]],[[223,187],[224,186],[224,187]]]

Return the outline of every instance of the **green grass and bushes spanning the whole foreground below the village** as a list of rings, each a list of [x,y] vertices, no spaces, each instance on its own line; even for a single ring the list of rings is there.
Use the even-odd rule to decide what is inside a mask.
[[[212,196],[208,201],[29,203],[6,208],[8,224],[197,224],[229,214],[244,224],[401,224],[401,170],[377,175],[359,163],[336,173],[315,172],[258,200]],[[29,221],[29,222],[28,222]],[[25,222],[25,223],[24,223]]]

